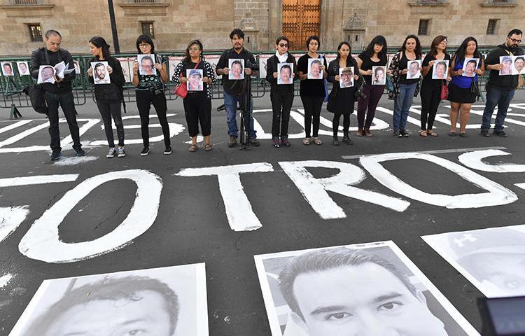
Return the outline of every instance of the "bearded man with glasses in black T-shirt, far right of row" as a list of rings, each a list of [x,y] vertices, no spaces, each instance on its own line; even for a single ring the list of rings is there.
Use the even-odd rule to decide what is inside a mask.
[[[500,76],[499,72],[503,69],[503,64],[500,63],[500,56],[524,55],[523,50],[518,46],[521,43],[521,36],[521,30],[512,29],[507,34],[507,41],[498,45],[485,59],[486,69],[491,72],[489,82],[486,83],[486,103],[481,127],[481,135],[483,137],[491,136],[489,129],[491,128],[491,117],[496,105],[498,105],[498,113],[496,114],[496,123],[492,134],[498,137],[507,137],[503,130],[503,123],[507,116],[510,101],[514,97],[514,91],[518,86],[519,75]]]

